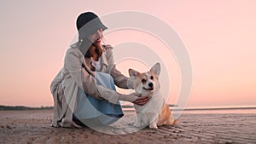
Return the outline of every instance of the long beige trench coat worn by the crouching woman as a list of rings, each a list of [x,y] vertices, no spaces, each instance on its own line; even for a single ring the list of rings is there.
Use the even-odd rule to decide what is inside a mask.
[[[130,78],[119,72],[113,63],[111,46],[103,46],[105,52],[100,57],[101,71],[109,73],[119,88],[132,89]],[[85,66],[83,67],[82,64]],[[75,43],[67,49],[64,66],[50,84],[50,91],[54,97],[54,118],[51,126],[79,127],[73,122],[73,112],[76,110],[78,89],[84,89],[88,95],[97,99],[105,99],[112,103],[119,101],[119,93],[96,84],[94,72],[90,71],[90,59],[84,55]]]

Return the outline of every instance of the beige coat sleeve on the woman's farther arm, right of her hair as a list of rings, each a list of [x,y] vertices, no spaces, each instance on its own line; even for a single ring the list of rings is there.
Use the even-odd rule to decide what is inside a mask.
[[[112,47],[108,45],[108,48],[106,50],[107,52],[107,60],[108,60],[108,66],[112,68],[110,71],[111,76],[113,77],[114,84],[116,84],[119,88],[122,89],[133,89],[133,82],[131,78],[127,78],[125,75],[123,75],[119,70],[116,68],[114,62],[113,62],[113,51]]]

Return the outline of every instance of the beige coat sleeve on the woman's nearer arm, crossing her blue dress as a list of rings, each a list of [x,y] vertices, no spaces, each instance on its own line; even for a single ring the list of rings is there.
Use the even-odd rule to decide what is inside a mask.
[[[120,94],[96,84],[96,79],[82,66],[84,55],[79,54],[78,50],[68,50],[65,56],[67,71],[70,73],[73,81],[79,88],[84,89],[86,94],[92,95],[97,99],[105,99],[109,102],[116,103],[119,100]]]

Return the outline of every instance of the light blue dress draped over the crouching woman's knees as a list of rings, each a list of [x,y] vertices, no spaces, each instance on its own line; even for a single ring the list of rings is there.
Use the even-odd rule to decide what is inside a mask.
[[[116,90],[113,78],[108,73],[96,72],[96,84],[107,89]],[[74,118],[79,119],[84,125],[109,125],[124,116],[119,101],[116,104],[106,100],[98,100],[91,95],[84,93],[83,89],[78,90],[77,109]]]

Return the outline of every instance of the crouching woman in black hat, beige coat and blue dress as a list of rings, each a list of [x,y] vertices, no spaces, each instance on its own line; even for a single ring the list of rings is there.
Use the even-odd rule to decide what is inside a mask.
[[[79,42],[67,49],[64,66],[50,85],[55,102],[51,125],[108,125],[123,116],[119,101],[144,105],[148,96],[119,94],[114,89],[114,84],[133,89],[133,84],[116,69],[113,48],[102,46],[102,32],[107,27],[98,16],[91,12],[80,14],[77,29]]]

